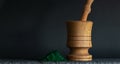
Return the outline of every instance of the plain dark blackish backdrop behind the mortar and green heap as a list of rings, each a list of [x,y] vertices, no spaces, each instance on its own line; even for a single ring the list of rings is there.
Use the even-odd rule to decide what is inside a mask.
[[[67,20],[79,20],[85,0],[0,0],[0,58],[40,59],[58,50],[64,56]],[[94,58],[120,57],[120,0],[95,0]]]

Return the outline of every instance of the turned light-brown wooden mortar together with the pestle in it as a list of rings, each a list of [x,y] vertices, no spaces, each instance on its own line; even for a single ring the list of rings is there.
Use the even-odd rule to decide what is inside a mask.
[[[87,0],[84,7],[82,18],[79,21],[67,22],[67,46],[70,48],[69,60],[73,61],[91,61],[92,55],[88,50],[92,47],[91,31],[92,21],[87,21],[93,0]]]

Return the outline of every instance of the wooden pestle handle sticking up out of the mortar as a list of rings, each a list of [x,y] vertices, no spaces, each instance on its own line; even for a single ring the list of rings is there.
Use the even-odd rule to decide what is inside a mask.
[[[88,14],[91,12],[91,5],[93,1],[94,0],[87,0],[83,10],[81,21],[87,21]]]

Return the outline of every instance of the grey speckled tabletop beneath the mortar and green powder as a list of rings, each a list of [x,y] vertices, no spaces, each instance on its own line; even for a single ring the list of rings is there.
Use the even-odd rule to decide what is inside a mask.
[[[43,62],[31,60],[0,60],[0,64],[120,64],[120,59],[93,59],[90,62]]]

